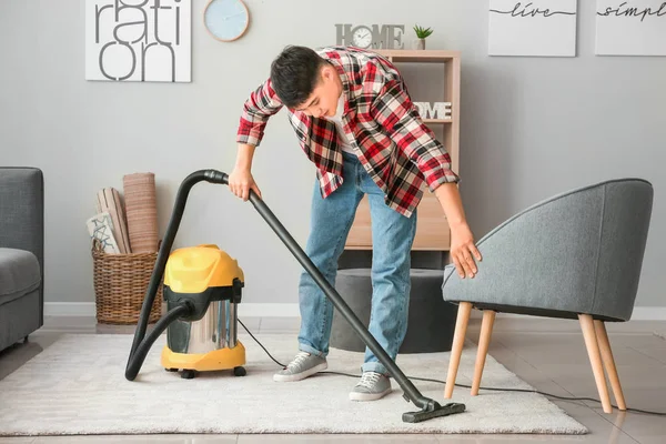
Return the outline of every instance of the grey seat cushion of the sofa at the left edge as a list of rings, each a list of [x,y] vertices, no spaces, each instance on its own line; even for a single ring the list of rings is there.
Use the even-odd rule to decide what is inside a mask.
[[[39,287],[41,270],[37,256],[26,250],[0,248],[0,305]]]

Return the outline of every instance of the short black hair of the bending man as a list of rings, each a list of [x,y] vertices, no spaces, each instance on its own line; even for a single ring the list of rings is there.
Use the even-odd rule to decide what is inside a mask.
[[[312,94],[326,63],[314,50],[289,46],[271,64],[271,81],[285,107],[294,109]]]

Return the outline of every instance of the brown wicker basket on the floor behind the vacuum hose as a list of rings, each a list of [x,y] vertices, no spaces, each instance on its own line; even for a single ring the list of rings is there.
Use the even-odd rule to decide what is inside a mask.
[[[152,275],[158,253],[104,253],[99,241],[92,243],[93,283],[97,320],[100,324],[137,324],[145,290]],[[149,323],[162,314],[160,282]]]

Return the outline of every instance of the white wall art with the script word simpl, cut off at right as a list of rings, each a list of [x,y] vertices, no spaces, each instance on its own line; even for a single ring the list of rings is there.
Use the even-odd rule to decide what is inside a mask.
[[[598,56],[666,56],[666,1],[597,0]]]

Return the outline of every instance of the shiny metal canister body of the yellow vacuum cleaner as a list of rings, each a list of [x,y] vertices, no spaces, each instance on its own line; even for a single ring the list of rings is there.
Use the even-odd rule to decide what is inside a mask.
[[[168,302],[168,305],[171,305]],[[172,306],[169,306],[171,310]],[[167,340],[174,353],[204,354],[220,349],[233,349],[238,342],[238,304],[211,301],[198,321],[176,321],[169,325]]]

